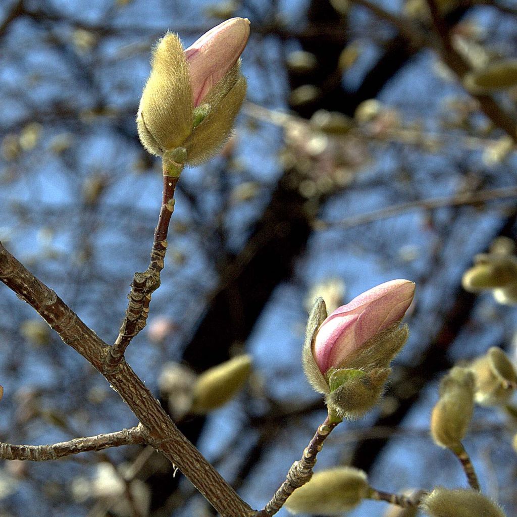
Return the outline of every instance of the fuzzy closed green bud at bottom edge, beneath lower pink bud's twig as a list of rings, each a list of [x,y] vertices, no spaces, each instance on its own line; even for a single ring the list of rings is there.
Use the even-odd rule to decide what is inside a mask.
[[[354,467],[336,467],[314,474],[297,488],[285,507],[291,513],[340,515],[357,506],[368,495],[366,474]]]

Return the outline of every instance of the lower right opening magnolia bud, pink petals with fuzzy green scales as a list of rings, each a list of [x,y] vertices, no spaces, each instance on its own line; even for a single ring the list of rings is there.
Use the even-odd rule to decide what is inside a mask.
[[[409,280],[392,280],[354,298],[326,317],[320,298],[309,317],[303,367],[316,391],[326,394],[329,412],[356,418],[378,401],[389,363],[408,330],[400,321],[415,294]]]

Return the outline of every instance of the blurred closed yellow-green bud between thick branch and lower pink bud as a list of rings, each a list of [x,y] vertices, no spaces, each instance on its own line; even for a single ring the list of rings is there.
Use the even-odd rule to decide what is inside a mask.
[[[203,372],[194,386],[192,413],[204,414],[232,399],[251,373],[251,357],[240,355]]]

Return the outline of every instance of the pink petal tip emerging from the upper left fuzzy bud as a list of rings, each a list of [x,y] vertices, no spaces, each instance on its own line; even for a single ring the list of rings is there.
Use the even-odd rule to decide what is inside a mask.
[[[249,35],[250,21],[247,18],[230,18],[210,29],[185,50],[194,108],[237,63]]]

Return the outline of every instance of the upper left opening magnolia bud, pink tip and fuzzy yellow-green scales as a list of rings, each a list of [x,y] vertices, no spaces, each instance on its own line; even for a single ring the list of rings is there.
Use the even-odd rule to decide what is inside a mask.
[[[159,41],[136,118],[149,153],[193,165],[224,144],[246,95],[239,56],[249,34],[248,19],[232,18],[185,51],[175,34]]]

